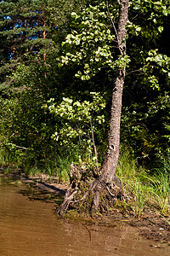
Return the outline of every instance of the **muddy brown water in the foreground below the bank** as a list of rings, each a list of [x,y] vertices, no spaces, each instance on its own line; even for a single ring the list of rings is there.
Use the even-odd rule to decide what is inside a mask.
[[[0,255],[170,255],[170,247],[150,247],[151,241],[125,224],[106,227],[59,219],[55,200],[47,192],[0,180]]]

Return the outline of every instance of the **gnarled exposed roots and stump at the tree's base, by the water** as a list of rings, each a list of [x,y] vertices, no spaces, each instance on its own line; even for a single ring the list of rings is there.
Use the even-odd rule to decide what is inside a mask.
[[[82,202],[83,208],[94,216],[97,211],[108,212],[108,209],[113,206],[117,198],[120,200],[125,199],[124,192],[126,189],[122,189],[118,178],[116,178],[115,183],[105,183],[102,176],[95,178],[94,181],[93,179],[93,172],[89,177],[87,170],[82,170],[80,166],[71,164],[71,183],[65,194],[65,200],[56,212],[63,216],[73,206],[76,209],[78,207],[80,210],[80,204],[77,203]],[[80,211],[82,212],[82,210]]]

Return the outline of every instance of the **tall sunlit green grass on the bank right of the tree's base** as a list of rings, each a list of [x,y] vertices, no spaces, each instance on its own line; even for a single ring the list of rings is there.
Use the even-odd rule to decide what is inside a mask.
[[[161,216],[170,214],[170,172],[167,172],[167,166],[168,163],[164,161],[160,170],[157,165],[155,174],[150,175],[137,166],[127,150],[120,154],[117,176],[130,188],[133,200],[127,202],[127,206],[132,209],[134,216],[139,218],[146,208],[159,212]]]

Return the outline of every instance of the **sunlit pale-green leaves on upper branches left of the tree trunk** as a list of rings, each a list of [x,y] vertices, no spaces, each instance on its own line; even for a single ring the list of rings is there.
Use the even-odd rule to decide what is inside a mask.
[[[58,59],[59,67],[76,63],[80,70],[75,76],[82,80],[91,79],[101,68],[125,67],[130,61],[128,56],[117,58],[113,51],[116,35],[109,24],[115,15],[116,3],[111,5],[110,17],[104,2],[89,5],[80,15],[73,12],[71,34],[62,43],[65,55]]]

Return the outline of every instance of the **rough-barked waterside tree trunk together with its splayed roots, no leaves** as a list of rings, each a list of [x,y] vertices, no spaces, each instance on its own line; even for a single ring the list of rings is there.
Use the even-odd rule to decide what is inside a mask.
[[[119,55],[122,57],[126,55],[126,25],[128,13],[128,0],[119,0],[119,20],[116,31],[117,46]],[[115,25],[114,25],[115,27]],[[76,166],[71,166],[71,183],[70,187],[65,194],[65,200],[62,205],[57,209],[57,213],[63,214],[68,209],[69,205],[84,200],[90,193],[94,195],[91,212],[96,212],[99,208],[99,192],[108,191],[111,197],[120,195],[121,182],[116,177],[116,166],[119,158],[119,145],[120,145],[120,124],[122,113],[122,89],[125,79],[126,67],[122,67],[117,71],[116,82],[112,92],[111,104],[111,120],[110,131],[108,138],[108,149],[101,169],[101,176],[97,177],[93,183],[90,183],[88,190],[82,196],[81,200],[74,200],[74,195],[79,190],[81,179],[81,172]],[[83,171],[82,171],[83,172]],[[74,175],[72,174],[74,173]],[[76,184],[76,185],[75,185]],[[114,184],[116,185],[114,187]],[[116,187],[120,187],[116,189]],[[110,201],[110,199],[109,199]]]

